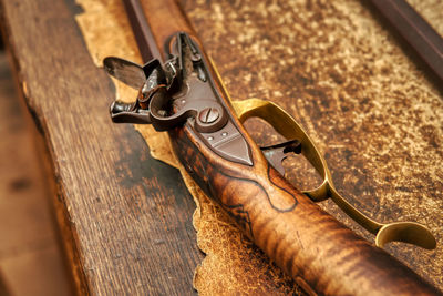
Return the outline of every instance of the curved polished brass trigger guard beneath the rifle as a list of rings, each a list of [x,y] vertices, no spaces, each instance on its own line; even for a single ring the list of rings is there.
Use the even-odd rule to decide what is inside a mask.
[[[427,227],[415,222],[379,223],[368,217],[346,201],[336,190],[328,164],[310,136],[296,120],[280,106],[259,99],[233,101],[233,105],[241,122],[250,118],[260,118],[268,122],[288,141],[295,139],[300,141],[301,154],[303,154],[323,178],[320,186],[312,191],[305,191],[303,193],[315,202],[331,198],[349,217],[359,223],[368,232],[375,235],[377,246],[383,247],[384,244],[390,242],[403,242],[427,249],[435,248],[435,237]]]

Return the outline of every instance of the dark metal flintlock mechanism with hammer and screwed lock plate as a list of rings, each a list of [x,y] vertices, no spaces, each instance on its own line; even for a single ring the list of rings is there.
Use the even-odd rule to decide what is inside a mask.
[[[141,67],[120,58],[106,58],[104,68],[130,86],[140,88],[134,103],[113,102],[116,123],[152,124],[168,131],[188,123],[219,156],[253,165],[249,146],[229,118],[198,45],[184,32],[169,39],[168,60]]]

